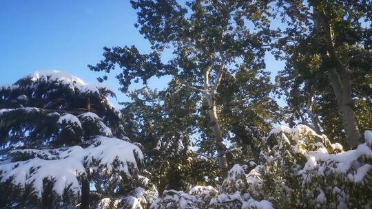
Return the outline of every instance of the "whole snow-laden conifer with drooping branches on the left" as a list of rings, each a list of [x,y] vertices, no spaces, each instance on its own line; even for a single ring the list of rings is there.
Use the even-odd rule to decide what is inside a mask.
[[[58,71],[1,87],[0,208],[139,208],[156,197],[107,96]]]

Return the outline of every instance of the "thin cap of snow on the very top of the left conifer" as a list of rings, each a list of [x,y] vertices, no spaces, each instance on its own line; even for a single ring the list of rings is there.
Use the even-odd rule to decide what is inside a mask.
[[[79,89],[81,92],[95,93],[99,92],[99,89],[107,89],[114,92],[110,87],[103,85],[102,83],[88,84],[72,74],[58,70],[37,71],[32,74],[28,74],[28,76],[25,76],[24,78],[30,78],[33,82],[61,82],[63,85],[68,85],[71,89]]]

